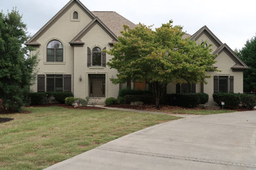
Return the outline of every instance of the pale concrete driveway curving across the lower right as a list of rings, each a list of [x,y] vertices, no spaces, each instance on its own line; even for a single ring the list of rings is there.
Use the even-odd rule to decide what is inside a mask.
[[[47,169],[256,169],[256,111],[148,127]]]

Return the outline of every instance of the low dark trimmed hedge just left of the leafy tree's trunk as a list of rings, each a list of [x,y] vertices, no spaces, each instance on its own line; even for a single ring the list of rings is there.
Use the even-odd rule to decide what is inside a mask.
[[[126,104],[130,104],[131,101],[142,101],[144,104],[156,104],[156,99],[153,95],[125,95],[123,97]]]

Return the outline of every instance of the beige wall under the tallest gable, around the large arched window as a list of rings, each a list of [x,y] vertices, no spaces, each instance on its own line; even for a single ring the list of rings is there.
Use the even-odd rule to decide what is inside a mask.
[[[79,13],[79,21],[71,21],[71,16],[74,11]],[[73,47],[70,46],[68,42],[70,42],[85,25],[89,24],[89,22],[91,22],[91,18],[89,18],[77,4],[74,4],[66,13],[60,16],[60,18],[37,39],[37,42],[39,42],[41,46],[37,48],[37,51],[32,52],[32,55],[36,52],[39,54],[37,74],[71,74],[73,79],[74,51]],[[63,62],[46,62],[47,44],[53,39],[62,42],[64,46]],[[36,81],[30,89],[33,92],[37,92]]]

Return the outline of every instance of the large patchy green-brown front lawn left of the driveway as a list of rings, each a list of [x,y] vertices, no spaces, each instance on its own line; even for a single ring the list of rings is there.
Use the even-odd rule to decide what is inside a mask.
[[[0,169],[43,169],[139,129],[178,117],[120,110],[26,108],[0,124]]]

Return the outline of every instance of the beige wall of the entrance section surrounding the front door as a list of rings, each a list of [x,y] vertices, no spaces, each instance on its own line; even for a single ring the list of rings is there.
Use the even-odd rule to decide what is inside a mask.
[[[84,46],[74,48],[74,95],[75,97],[85,98],[89,96],[89,74],[104,74],[106,75],[106,97],[117,97],[119,84],[112,84],[110,78],[116,78],[117,71],[110,67],[87,67],[87,46],[91,50],[98,46],[101,49],[106,47],[110,50],[108,42],[112,42],[112,37],[96,24],[89,32],[85,34],[81,41],[85,42]],[[106,54],[106,62],[112,56]],[[79,82],[79,76],[82,76],[82,81]]]

